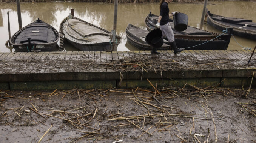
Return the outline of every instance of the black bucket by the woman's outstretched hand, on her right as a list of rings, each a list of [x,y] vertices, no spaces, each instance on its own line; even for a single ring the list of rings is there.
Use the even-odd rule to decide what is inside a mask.
[[[184,31],[188,27],[188,15],[184,13],[177,13],[173,16],[174,29],[177,31]]]

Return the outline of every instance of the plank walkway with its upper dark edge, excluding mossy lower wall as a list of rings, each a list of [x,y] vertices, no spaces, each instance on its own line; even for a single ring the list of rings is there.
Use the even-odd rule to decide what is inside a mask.
[[[147,78],[222,80],[248,78],[256,71],[256,63],[247,65],[252,53],[247,50],[185,50],[176,55],[173,51],[160,52],[156,55],[150,51],[0,53],[0,82]],[[256,54],[252,59],[256,59]],[[151,61],[147,64],[152,65],[147,65],[147,60]],[[117,64],[122,66],[115,66]]]

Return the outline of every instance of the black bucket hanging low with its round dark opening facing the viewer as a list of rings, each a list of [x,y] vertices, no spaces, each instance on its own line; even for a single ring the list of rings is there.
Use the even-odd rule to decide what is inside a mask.
[[[160,48],[163,45],[163,35],[160,29],[154,29],[146,36],[147,44],[153,48]]]

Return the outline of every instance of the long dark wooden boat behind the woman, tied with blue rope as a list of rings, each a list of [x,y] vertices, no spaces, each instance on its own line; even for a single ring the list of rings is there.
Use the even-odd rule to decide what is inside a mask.
[[[145,18],[145,25],[147,27],[147,30],[151,31],[155,28],[158,17],[159,16],[157,15],[151,14],[151,12],[147,15],[147,17]],[[228,29],[227,33],[222,35],[219,33],[213,33],[202,29],[197,29],[192,26],[188,26],[188,28],[184,31],[177,31],[174,29],[172,19],[170,19],[170,25],[173,30],[175,42],[178,48],[186,48],[186,50],[226,50],[228,48],[232,28]]]

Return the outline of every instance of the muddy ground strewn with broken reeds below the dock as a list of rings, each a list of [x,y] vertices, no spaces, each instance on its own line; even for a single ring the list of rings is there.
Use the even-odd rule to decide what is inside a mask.
[[[1,91],[0,142],[256,142],[255,89],[157,91]]]

